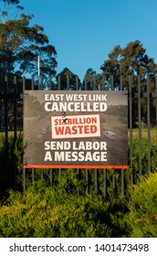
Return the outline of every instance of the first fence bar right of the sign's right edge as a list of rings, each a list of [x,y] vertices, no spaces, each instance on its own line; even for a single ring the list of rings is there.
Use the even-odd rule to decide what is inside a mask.
[[[132,155],[133,155],[133,147],[132,147],[132,81],[131,76],[129,76],[129,108],[130,108],[130,158],[131,158],[131,169],[132,169]],[[131,170],[131,183],[133,184],[133,172]]]

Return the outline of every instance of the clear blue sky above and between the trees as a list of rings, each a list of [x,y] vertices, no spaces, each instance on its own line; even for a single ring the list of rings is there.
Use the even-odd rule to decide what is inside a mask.
[[[44,27],[58,52],[58,69],[70,69],[82,80],[100,66],[117,45],[140,40],[157,62],[156,0],[21,0],[32,24]]]

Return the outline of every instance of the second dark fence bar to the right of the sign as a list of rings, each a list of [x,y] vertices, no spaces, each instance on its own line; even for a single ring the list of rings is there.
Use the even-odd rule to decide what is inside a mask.
[[[141,176],[141,77],[138,76],[139,174]]]

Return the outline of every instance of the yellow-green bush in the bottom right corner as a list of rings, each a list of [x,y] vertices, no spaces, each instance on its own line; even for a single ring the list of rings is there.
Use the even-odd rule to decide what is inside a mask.
[[[112,223],[120,230],[120,236],[132,238],[157,237],[157,173],[142,176],[141,182],[131,190],[126,202],[129,212],[111,216]]]

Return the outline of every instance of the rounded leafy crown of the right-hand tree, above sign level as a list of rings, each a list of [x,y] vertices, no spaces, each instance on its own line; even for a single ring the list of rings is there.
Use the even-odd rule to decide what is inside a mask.
[[[144,80],[147,75],[152,76],[157,69],[157,64],[148,57],[146,49],[143,48],[139,40],[130,42],[125,48],[121,48],[120,45],[116,46],[108,57],[109,59],[104,61],[100,69],[106,76],[106,80],[110,81],[110,76],[113,76],[116,89],[120,89],[120,75],[123,86],[128,89],[129,75],[134,81],[138,76]],[[144,89],[143,83],[141,83],[141,91]],[[137,91],[137,88],[135,90]]]

